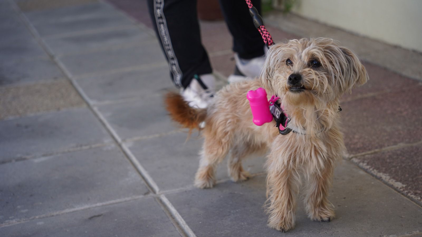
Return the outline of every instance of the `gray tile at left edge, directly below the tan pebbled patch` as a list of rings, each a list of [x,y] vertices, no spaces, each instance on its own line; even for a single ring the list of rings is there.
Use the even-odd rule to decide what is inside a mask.
[[[0,121],[0,162],[111,142],[88,108]]]

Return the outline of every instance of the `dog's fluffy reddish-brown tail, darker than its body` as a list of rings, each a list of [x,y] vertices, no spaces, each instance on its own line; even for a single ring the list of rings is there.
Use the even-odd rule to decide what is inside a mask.
[[[165,95],[165,108],[170,113],[170,117],[181,124],[181,127],[200,129],[200,122],[204,121],[207,115],[206,109],[192,108],[183,100],[183,97],[175,92],[168,92]]]

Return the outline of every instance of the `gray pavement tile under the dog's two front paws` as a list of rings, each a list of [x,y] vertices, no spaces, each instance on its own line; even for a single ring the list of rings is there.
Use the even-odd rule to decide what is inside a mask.
[[[395,236],[421,231],[421,207],[350,162],[337,167],[330,223],[307,218],[298,202],[296,227],[285,234],[266,226],[265,175],[166,195],[196,236]]]

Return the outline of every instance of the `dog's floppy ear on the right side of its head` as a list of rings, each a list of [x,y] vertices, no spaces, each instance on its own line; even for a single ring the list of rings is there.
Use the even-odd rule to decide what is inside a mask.
[[[349,48],[340,47],[346,59],[346,67],[343,68],[343,76],[346,80],[346,91],[350,91],[355,86],[365,84],[369,77],[365,66],[362,65],[359,58]]]

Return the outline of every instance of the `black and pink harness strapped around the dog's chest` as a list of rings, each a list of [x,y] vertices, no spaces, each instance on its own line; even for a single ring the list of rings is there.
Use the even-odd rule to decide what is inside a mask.
[[[276,97],[276,95],[274,95],[273,97]],[[341,107],[338,106],[338,112],[340,111]],[[288,126],[290,118],[287,113],[284,113],[284,110],[281,108],[280,102],[278,102],[277,100],[272,101],[270,105],[270,112],[273,115],[274,121],[276,121],[276,127],[279,129],[279,133],[281,135],[287,135],[290,132],[306,135],[305,129]],[[324,131],[324,126],[322,126],[322,130],[320,132],[322,131]]]

